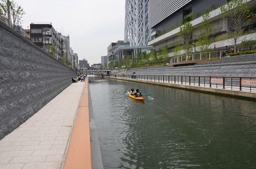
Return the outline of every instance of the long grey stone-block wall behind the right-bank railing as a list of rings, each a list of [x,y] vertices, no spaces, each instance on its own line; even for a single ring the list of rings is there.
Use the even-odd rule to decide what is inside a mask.
[[[256,54],[229,56],[222,58],[220,61],[200,63],[195,66],[133,68],[128,70],[127,74],[133,72],[136,75],[255,77]]]

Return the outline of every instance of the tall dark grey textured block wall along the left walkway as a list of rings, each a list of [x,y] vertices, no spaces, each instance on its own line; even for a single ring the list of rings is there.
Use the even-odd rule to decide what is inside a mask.
[[[0,22],[0,139],[68,87],[75,75]]]

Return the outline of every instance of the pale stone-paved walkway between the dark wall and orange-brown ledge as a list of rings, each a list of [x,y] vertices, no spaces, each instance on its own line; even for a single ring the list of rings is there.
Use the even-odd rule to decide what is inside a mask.
[[[60,169],[84,82],[72,83],[0,140],[0,169]]]

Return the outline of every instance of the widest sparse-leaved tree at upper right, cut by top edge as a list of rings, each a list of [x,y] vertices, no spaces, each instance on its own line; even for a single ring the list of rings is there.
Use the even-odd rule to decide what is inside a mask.
[[[230,0],[227,5],[220,7],[222,22],[227,34],[234,41],[235,52],[239,36],[244,33],[244,28],[248,26],[249,6],[246,0]]]

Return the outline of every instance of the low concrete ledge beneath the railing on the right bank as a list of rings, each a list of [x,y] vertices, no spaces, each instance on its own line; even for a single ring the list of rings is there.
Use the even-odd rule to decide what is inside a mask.
[[[253,92],[243,92],[243,91],[236,91],[236,90],[228,90],[228,89],[216,89],[213,87],[200,87],[200,86],[191,86],[191,85],[181,85],[181,84],[173,84],[173,83],[163,83],[163,82],[152,82],[152,81],[143,81],[143,80],[130,80],[130,79],[123,79],[123,78],[115,78],[115,77],[106,77],[110,79],[118,79],[118,80],[125,80],[125,81],[133,81],[133,82],[140,82],[152,85],[159,85],[159,86],[166,86],[166,87],[173,87],[178,89],[187,89],[193,90],[198,92],[205,92],[205,93],[212,93],[212,94],[219,94],[231,97],[239,97],[243,99],[254,99],[256,100],[256,93]]]

